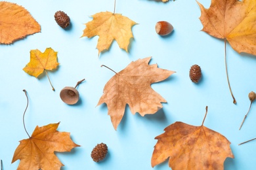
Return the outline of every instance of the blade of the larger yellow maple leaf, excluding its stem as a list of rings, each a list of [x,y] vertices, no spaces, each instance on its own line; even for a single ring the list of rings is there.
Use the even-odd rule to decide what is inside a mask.
[[[131,27],[137,24],[136,22],[112,12],[99,12],[92,17],[93,20],[85,24],[86,28],[81,37],[91,38],[98,35],[98,54],[103,50],[108,50],[114,39],[120,48],[128,52],[130,39],[133,38]]]

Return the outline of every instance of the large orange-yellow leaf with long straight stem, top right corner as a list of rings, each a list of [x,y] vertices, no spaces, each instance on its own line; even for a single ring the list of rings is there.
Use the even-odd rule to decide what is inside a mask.
[[[256,55],[256,0],[211,0],[209,9],[198,3],[201,9],[202,31],[218,39],[224,39],[224,61],[228,87],[232,93],[226,64],[226,41],[236,52]]]

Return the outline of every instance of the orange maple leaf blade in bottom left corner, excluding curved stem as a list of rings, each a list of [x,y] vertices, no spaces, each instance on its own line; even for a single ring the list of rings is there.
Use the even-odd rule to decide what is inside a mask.
[[[70,152],[79,146],[70,139],[70,133],[56,131],[58,124],[35,127],[29,139],[23,139],[14,152],[12,163],[20,160],[18,170],[22,169],[60,169],[64,166],[54,154]]]

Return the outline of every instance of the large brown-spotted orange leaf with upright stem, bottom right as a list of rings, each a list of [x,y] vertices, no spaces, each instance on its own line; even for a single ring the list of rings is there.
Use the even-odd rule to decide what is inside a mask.
[[[206,113],[207,114],[207,107]],[[203,119],[204,122],[205,118]],[[159,135],[151,165],[169,158],[171,169],[223,169],[227,157],[234,158],[226,137],[203,126],[175,122]]]

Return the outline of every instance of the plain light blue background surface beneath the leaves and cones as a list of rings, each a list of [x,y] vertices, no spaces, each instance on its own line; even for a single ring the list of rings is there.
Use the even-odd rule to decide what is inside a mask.
[[[98,37],[80,38],[89,16],[106,10],[114,10],[114,0],[60,1],[24,0],[11,2],[22,5],[30,11],[41,25],[41,33],[30,35],[11,45],[0,45],[0,159],[5,170],[16,169],[19,161],[11,164],[14,150],[20,140],[27,139],[22,124],[22,114],[26,107],[23,89],[28,91],[30,105],[25,122],[28,133],[35,126],[45,126],[60,122],[58,131],[71,133],[73,141],[81,147],[72,152],[56,155],[68,169],[152,169],[151,157],[156,144],[154,137],[174,122],[200,126],[208,106],[206,127],[224,135],[230,142],[235,158],[227,158],[224,168],[255,169],[256,141],[238,146],[238,143],[256,137],[256,106],[239,131],[244,114],[249,108],[248,93],[256,91],[256,59],[249,54],[238,54],[227,45],[227,63],[230,84],[237,105],[232,103],[228,90],[224,67],[224,41],[215,39],[200,31],[200,8],[196,1],[154,0],[116,1],[116,13],[121,13],[138,23],[133,26],[135,39],[131,41],[129,53],[121,50],[113,42],[110,50],[100,54],[96,44]],[[210,0],[200,0],[206,8]],[[63,10],[71,18],[68,30],[59,27],[54,13]],[[160,20],[170,22],[174,31],[167,37],[156,34],[155,24]],[[51,47],[58,52],[60,66],[49,71],[55,92],[46,75],[35,78],[22,69],[30,61],[30,50]],[[177,73],[167,80],[152,84],[167,103],[154,115],[131,114],[129,108],[117,131],[108,116],[106,105],[96,107],[106,82],[114,76],[112,71],[100,67],[108,65],[121,71],[131,61],[152,56],[150,63],[158,63],[162,69]],[[191,82],[188,73],[194,64],[202,68],[199,84]],[[75,86],[85,78],[77,90],[79,105],[66,105],[59,97],[65,86]],[[95,163],[91,150],[97,143],[106,143],[109,148],[107,158]],[[167,161],[154,169],[170,169]]]

